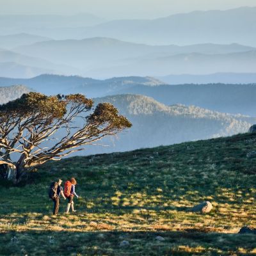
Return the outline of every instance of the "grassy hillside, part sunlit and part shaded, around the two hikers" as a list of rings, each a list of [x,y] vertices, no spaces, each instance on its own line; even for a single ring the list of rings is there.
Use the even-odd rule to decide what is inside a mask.
[[[237,234],[256,228],[255,142],[240,134],[44,164],[26,186],[1,184],[0,255],[255,255],[255,235]],[[52,217],[49,183],[70,176],[78,211],[63,214],[61,200]],[[209,214],[188,211],[204,200]]]

